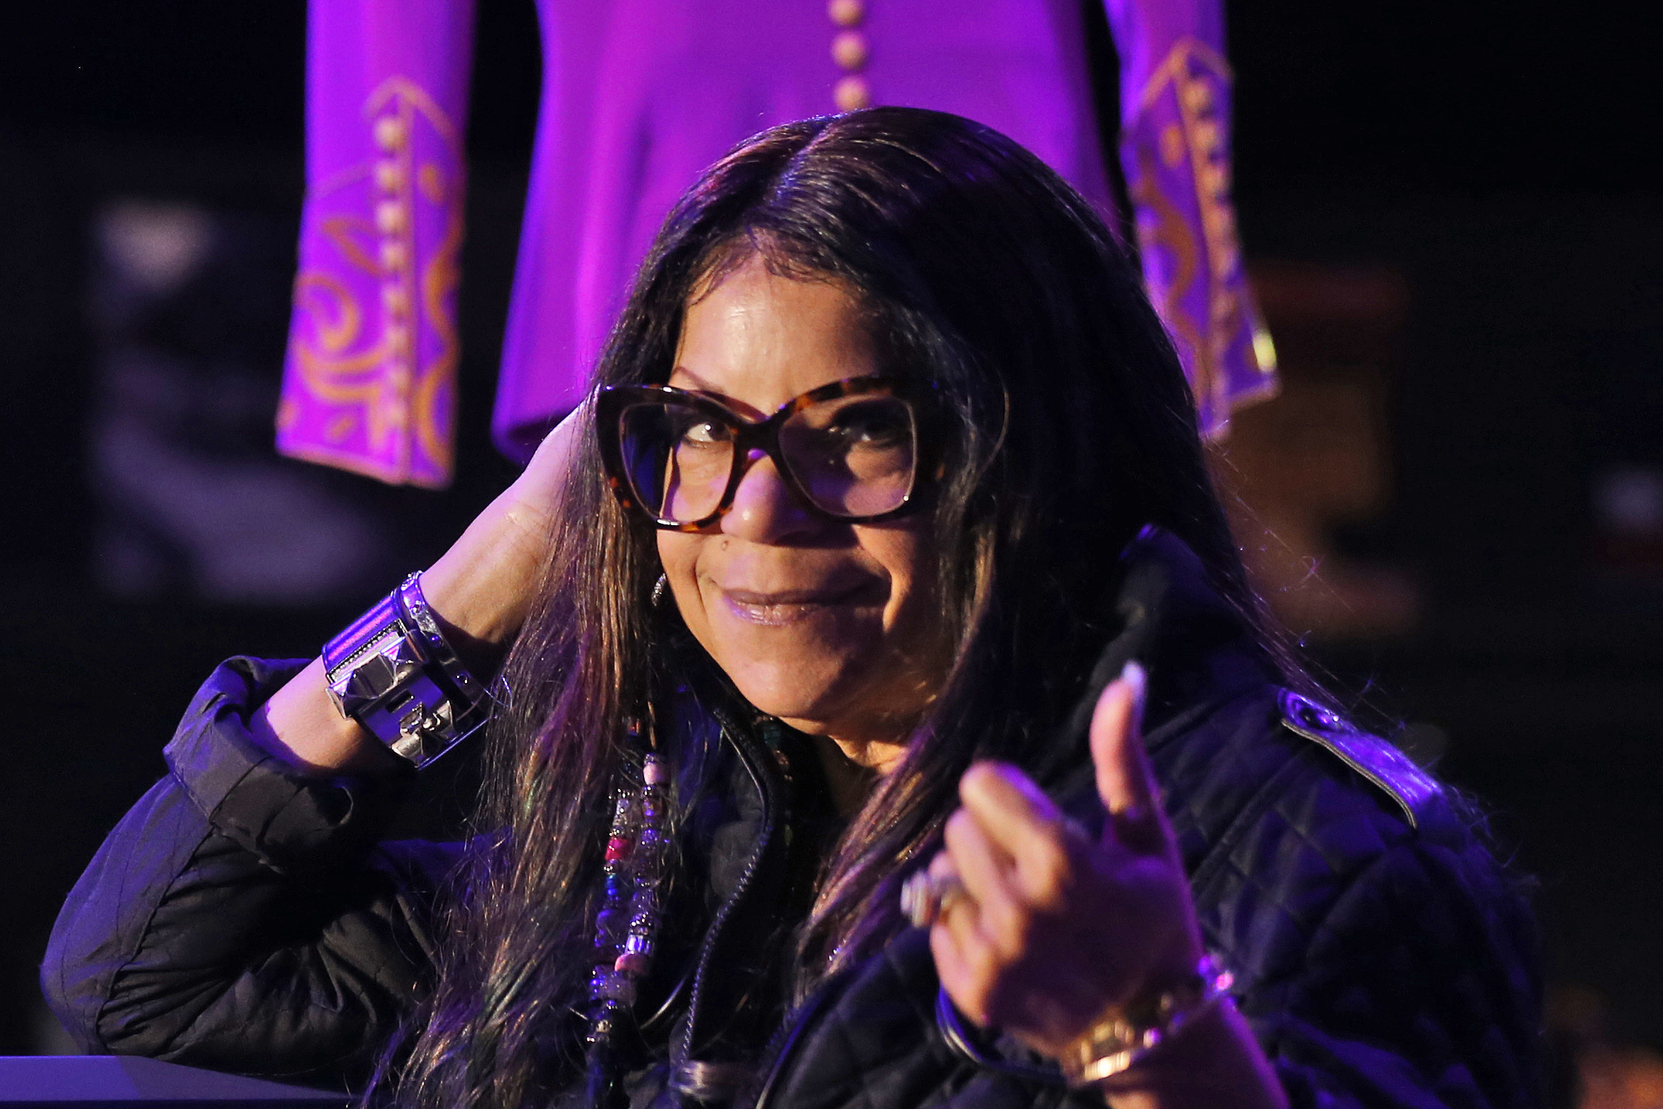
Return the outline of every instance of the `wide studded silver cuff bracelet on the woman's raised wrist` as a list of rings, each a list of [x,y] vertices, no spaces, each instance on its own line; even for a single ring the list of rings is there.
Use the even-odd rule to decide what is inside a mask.
[[[491,717],[486,687],[439,630],[411,574],[323,648],[329,697],[392,752],[426,766]]]

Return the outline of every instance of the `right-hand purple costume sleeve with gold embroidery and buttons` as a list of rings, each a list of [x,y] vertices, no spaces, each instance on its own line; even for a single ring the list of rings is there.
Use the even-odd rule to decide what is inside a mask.
[[[1104,0],[1121,57],[1121,168],[1144,284],[1189,374],[1201,431],[1276,392],[1231,205],[1231,68],[1221,0]]]

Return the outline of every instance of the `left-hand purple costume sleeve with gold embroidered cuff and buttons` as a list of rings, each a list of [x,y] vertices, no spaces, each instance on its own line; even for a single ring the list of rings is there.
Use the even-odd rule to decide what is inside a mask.
[[[451,482],[472,0],[313,0],[278,449]]]

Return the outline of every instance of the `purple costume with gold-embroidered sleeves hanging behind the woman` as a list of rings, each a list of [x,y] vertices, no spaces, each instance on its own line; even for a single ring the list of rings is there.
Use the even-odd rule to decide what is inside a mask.
[[[1144,274],[1202,427],[1274,389],[1229,205],[1217,0],[1106,0]],[[442,485],[469,0],[313,0],[308,198],[278,446]],[[865,103],[988,123],[1111,209],[1079,0],[539,0],[542,110],[492,427],[529,457],[584,396],[674,200],[737,141]]]

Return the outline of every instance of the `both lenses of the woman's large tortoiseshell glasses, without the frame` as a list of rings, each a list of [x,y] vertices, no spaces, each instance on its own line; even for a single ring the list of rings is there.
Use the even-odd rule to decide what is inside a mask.
[[[733,472],[735,431],[690,404],[629,406],[619,439],[635,497],[664,520],[707,519],[720,507]],[[780,456],[822,512],[880,515],[911,492],[916,437],[905,401],[856,394],[793,412],[780,426]]]

